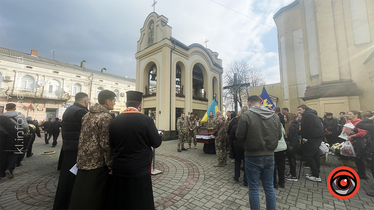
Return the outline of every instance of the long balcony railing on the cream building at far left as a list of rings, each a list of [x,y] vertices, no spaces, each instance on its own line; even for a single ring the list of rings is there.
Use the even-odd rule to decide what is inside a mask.
[[[1,96],[19,96],[19,97],[32,97],[32,98],[46,98],[46,99],[59,99],[67,101],[70,99],[70,95],[64,92],[56,91],[43,91],[42,89],[25,89],[25,88],[14,88],[4,89],[0,92]]]

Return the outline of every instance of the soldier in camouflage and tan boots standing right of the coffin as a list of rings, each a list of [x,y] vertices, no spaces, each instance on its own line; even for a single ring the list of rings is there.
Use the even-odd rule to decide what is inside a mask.
[[[215,112],[215,115],[217,118],[214,122],[213,136],[215,139],[215,152],[217,153],[218,163],[214,164],[214,167],[223,167],[226,165],[227,161],[226,131],[229,124],[221,111]]]

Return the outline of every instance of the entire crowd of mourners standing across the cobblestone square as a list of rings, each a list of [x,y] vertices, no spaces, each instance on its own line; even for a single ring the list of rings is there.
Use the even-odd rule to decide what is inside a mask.
[[[151,147],[161,145],[161,136],[153,119],[141,112],[142,93],[126,93],[127,108],[116,118],[110,112],[116,104],[116,94],[102,90],[98,103],[89,109],[88,95],[80,92],[75,95],[74,104],[64,112],[63,121],[49,118],[42,122],[45,143],[53,136],[52,147],[56,146],[60,128],[62,130],[60,175],[53,209],[154,209]],[[1,148],[12,148],[18,130],[28,134],[30,146],[23,155],[11,149],[1,152],[1,177],[9,179],[13,178],[13,170],[20,166],[22,158],[33,155],[32,142],[36,136],[43,138],[38,123],[15,109],[15,104],[7,104],[7,112],[0,115]],[[373,149],[373,112],[340,112],[339,118],[325,112],[322,118],[306,105],[298,106],[295,111],[297,115],[278,106],[270,110],[261,106],[258,96],[250,96],[248,106],[243,106],[239,113],[227,111],[226,117],[221,111],[216,111],[215,117],[213,112],[209,113],[206,128],[212,129],[218,159],[214,167],[227,165],[229,154],[234,162],[233,181],[238,183],[240,170],[244,171],[243,186],[248,188],[251,209],[260,209],[260,179],[267,209],[276,207],[274,189],[285,188],[286,180],[298,181],[295,158],[298,149],[305,158],[303,167],[310,168],[306,179],[321,182],[321,142],[332,145],[343,141],[338,135],[347,123],[355,126],[348,140],[356,152],[358,175],[360,179],[368,179],[364,160],[368,155],[374,159],[373,151],[367,149]],[[192,141],[197,149],[196,135],[201,130],[201,119],[197,115],[191,112],[186,117],[181,113],[177,130],[177,152],[191,149]],[[184,147],[185,142],[188,148]],[[5,164],[3,160],[7,160]],[[373,173],[373,162],[371,164]],[[70,172],[74,167],[76,174]]]

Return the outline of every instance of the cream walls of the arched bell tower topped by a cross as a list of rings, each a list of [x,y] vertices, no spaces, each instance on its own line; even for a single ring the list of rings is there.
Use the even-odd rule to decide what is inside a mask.
[[[176,109],[189,114],[193,110],[206,112],[214,95],[218,107],[222,110],[222,61],[218,53],[206,49],[201,44],[189,46],[172,37],[168,19],[157,13],[150,13],[140,30],[141,37],[137,45],[137,86],[136,90],[148,94],[146,86],[151,78],[150,73],[156,67],[156,95],[143,98],[143,112],[152,109],[156,127],[165,130],[164,140],[175,139]],[[153,43],[150,43],[153,27]],[[176,96],[177,66],[180,67],[183,95]],[[203,88],[194,92],[193,69],[201,70]],[[178,70],[179,71],[179,70]],[[196,73],[196,72],[195,72]],[[213,85],[214,83],[214,85]],[[202,99],[196,99],[202,95]],[[206,99],[206,100],[205,100]],[[155,110],[155,111],[154,111]],[[202,116],[200,116],[202,118]]]

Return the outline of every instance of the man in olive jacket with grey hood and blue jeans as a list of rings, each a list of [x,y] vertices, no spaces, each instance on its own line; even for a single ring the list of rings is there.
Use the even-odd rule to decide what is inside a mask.
[[[266,209],[275,209],[274,150],[282,138],[282,124],[274,111],[261,106],[258,96],[248,97],[248,107],[248,111],[240,115],[236,138],[238,143],[244,142],[249,205],[251,209],[260,209],[258,185],[261,175]]]

